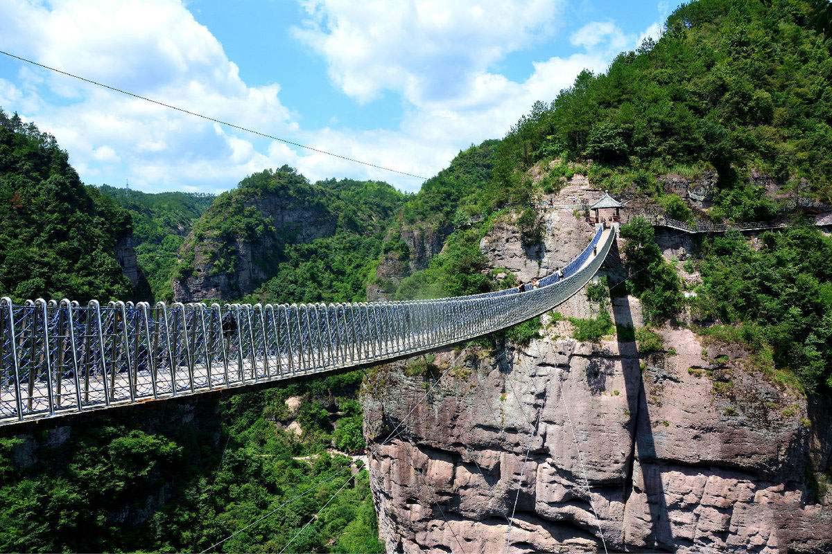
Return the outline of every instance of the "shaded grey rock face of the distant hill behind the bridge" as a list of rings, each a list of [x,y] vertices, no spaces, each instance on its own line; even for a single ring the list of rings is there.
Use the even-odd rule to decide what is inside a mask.
[[[193,267],[190,275],[174,280],[177,302],[234,299],[253,292],[271,276],[270,268],[280,260],[285,243],[307,243],[330,236],[337,222],[323,204],[303,199],[264,194],[245,199],[244,204],[257,210],[274,230],[260,233],[254,240],[245,234],[197,240],[191,233],[182,250],[193,251]],[[231,271],[218,267],[218,255],[231,258]]]

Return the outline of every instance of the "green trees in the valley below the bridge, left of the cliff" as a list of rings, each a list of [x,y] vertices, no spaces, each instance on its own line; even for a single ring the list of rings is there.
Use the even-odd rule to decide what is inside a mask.
[[[206,401],[181,426],[166,424],[183,415],[172,405],[143,422],[116,414],[65,440],[36,435],[37,450],[0,439],[0,551],[199,552],[276,510],[217,549],[276,552],[344,486],[290,552],[383,552],[367,473],[353,482],[349,459],[325,452],[332,439],[349,452],[364,448],[352,400],[361,379],[354,372]],[[305,400],[300,440],[273,423],[292,418],[285,399],[295,395]],[[21,463],[26,452],[36,455]]]

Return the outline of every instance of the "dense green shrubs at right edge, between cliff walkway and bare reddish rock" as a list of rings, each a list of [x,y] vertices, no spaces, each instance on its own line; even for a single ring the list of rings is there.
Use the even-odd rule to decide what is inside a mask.
[[[694,302],[705,332],[769,352],[805,390],[832,386],[832,239],[815,228],[764,233],[755,249],[739,233],[703,250],[703,284]],[[765,365],[765,360],[760,360]]]

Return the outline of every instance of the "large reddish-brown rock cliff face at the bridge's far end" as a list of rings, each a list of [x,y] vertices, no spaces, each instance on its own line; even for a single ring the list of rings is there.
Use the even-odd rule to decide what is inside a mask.
[[[525,278],[586,244],[571,211],[543,217],[554,236],[537,259],[511,223],[483,251]],[[614,280],[614,259],[606,270]],[[579,293],[558,311],[596,309]],[[634,298],[613,314],[641,325]],[[815,483],[830,468],[829,406],[684,328],[661,329],[665,351],[646,353],[577,342],[550,320],[527,347],[445,351],[430,375],[408,376],[407,362],[374,375],[364,426],[389,552],[832,550],[832,493]]]

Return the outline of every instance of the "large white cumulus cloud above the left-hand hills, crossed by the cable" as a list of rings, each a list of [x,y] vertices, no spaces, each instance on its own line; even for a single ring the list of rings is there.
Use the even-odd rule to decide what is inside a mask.
[[[220,42],[176,0],[2,2],[0,36],[23,56],[143,96],[275,134],[298,130],[280,86],[246,85]],[[43,101],[47,95],[57,98]],[[245,171],[297,157],[268,158],[250,138],[217,133],[191,115],[27,66],[17,86],[0,81],[0,101],[56,135],[87,180],[118,174],[143,188],[227,189]],[[105,164],[111,169],[92,169]]]

